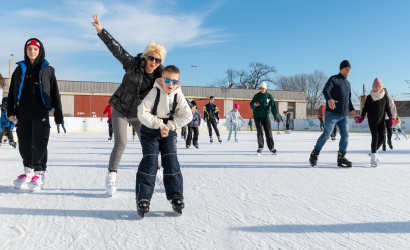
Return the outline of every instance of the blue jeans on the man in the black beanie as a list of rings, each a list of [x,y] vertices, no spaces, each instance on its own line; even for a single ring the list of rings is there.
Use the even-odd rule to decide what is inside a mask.
[[[315,145],[317,151],[322,150],[326,141],[330,138],[335,125],[339,127],[340,131],[339,152],[346,152],[347,145],[349,144],[349,117],[347,115],[342,116],[327,111],[325,114],[325,129],[319,139],[317,139]]]

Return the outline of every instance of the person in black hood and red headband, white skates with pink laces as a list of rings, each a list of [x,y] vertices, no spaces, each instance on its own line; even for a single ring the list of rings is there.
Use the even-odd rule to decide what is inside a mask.
[[[18,119],[17,137],[24,174],[14,188],[41,190],[47,170],[47,145],[50,137],[49,112],[61,124],[63,112],[54,69],[45,59],[44,46],[37,38],[24,44],[24,60],[17,63],[7,98],[7,116]]]

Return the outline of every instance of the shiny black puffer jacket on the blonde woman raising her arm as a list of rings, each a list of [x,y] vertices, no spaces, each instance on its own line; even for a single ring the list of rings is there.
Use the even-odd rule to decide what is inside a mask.
[[[109,103],[126,117],[138,117],[137,107],[145,97],[140,91],[145,72],[145,59],[142,53],[136,57],[131,56],[105,29],[98,36],[125,70],[122,83],[111,96]],[[150,83],[151,88],[154,86],[155,79],[161,77],[163,70],[162,64],[155,69],[154,79]]]

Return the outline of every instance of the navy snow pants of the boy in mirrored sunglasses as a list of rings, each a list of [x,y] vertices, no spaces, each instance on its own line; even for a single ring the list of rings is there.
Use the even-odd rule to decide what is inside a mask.
[[[161,152],[161,165],[164,168],[164,186],[168,200],[183,199],[183,180],[177,157],[177,133],[169,131],[161,137],[159,129],[141,126],[142,160],[138,166],[135,187],[137,201],[151,201],[158,170],[158,155]]]

